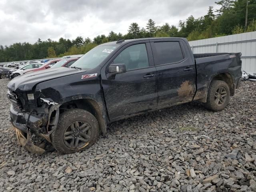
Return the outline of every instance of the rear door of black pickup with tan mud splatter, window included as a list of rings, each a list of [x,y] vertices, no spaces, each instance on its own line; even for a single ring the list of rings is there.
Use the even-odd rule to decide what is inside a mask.
[[[158,106],[189,102],[196,91],[196,68],[181,39],[150,40],[157,71]]]

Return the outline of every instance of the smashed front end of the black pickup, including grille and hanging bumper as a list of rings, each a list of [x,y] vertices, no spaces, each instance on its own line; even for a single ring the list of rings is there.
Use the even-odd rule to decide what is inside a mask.
[[[40,94],[8,90],[8,99],[11,102],[10,122],[16,129],[18,141],[28,151],[43,154],[44,143],[34,145],[32,134],[51,142],[50,134],[58,124],[60,104],[39,96]]]

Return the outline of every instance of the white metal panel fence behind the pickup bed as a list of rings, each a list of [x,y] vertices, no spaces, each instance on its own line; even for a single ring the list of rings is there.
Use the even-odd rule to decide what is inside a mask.
[[[241,52],[243,70],[256,73],[256,32],[190,41],[189,44],[194,54]]]

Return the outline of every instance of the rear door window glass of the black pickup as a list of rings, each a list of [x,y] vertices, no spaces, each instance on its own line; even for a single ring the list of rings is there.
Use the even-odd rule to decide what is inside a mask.
[[[179,42],[155,42],[156,65],[179,62],[184,59]]]

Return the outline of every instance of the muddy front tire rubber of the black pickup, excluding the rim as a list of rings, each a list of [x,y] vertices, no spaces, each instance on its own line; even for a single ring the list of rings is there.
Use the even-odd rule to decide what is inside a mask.
[[[80,149],[69,148],[64,141],[64,132],[72,122],[86,121],[91,126],[91,137],[89,144]],[[99,125],[97,119],[88,111],[82,109],[70,109],[59,116],[58,125],[51,134],[52,145],[61,154],[79,152],[94,144],[99,136]]]

